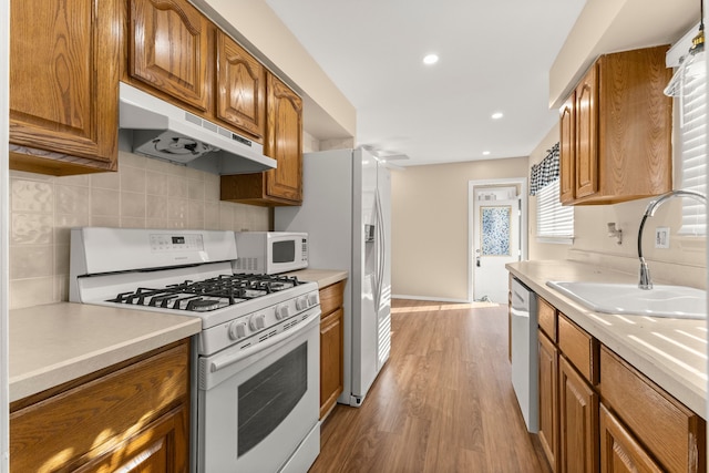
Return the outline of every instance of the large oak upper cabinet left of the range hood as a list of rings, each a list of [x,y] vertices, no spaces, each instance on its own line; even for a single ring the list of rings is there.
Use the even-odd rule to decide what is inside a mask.
[[[115,171],[119,16],[113,0],[10,3],[10,167]]]

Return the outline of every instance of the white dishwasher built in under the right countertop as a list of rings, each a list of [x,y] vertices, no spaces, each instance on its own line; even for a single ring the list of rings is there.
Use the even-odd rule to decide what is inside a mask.
[[[536,294],[512,278],[512,387],[527,430],[540,430]]]

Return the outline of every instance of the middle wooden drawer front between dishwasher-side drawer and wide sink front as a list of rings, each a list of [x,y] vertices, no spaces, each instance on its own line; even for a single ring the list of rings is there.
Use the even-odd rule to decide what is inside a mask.
[[[558,348],[586,381],[598,383],[598,340],[563,313],[558,317]]]

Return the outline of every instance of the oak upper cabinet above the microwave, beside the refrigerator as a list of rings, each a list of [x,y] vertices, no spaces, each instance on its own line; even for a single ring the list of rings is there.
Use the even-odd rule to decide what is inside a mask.
[[[302,203],[302,101],[275,75],[266,79],[264,153],[277,167],[266,173],[222,176],[222,200],[279,206]]]

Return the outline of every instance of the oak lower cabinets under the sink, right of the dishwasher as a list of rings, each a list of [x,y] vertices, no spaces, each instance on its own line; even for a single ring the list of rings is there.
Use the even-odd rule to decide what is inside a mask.
[[[537,330],[538,440],[552,471],[706,472],[706,421],[552,309]]]

